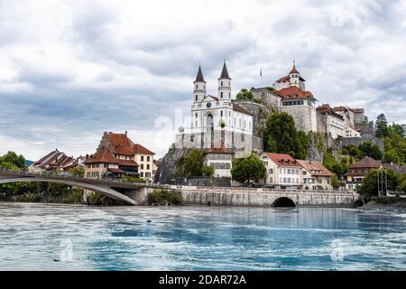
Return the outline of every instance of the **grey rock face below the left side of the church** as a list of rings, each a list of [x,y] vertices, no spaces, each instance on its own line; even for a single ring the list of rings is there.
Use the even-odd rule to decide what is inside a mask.
[[[190,149],[175,148],[172,144],[168,153],[162,158],[161,165],[155,173],[156,183],[173,183],[174,174],[176,172],[176,165],[180,159],[188,154]]]

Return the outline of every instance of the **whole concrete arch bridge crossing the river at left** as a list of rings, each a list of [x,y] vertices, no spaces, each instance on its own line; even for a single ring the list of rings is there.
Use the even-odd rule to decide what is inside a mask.
[[[55,182],[75,186],[89,191],[97,191],[107,197],[125,204],[138,205],[139,194],[148,193],[145,183],[119,182],[114,180],[93,180],[72,176],[28,173],[0,170],[0,184],[9,182]],[[144,200],[145,198],[141,198]]]

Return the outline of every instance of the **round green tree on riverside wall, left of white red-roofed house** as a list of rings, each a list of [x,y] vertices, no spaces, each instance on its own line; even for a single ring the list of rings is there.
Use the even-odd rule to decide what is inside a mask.
[[[231,176],[236,182],[244,184],[259,182],[266,176],[266,168],[263,161],[253,153],[246,158],[234,160]]]

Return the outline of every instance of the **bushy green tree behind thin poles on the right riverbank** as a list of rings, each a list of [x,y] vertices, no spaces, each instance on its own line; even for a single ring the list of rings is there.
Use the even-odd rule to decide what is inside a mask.
[[[392,170],[373,170],[368,172],[368,174],[364,177],[361,186],[358,188],[358,192],[363,195],[369,196],[377,196],[378,195],[378,173],[379,173],[379,186],[382,190],[383,184],[383,191],[386,190],[386,185],[388,187],[388,191],[396,191],[398,186],[399,180],[398,176]],[[386,182],[387,181],[387,182]]]

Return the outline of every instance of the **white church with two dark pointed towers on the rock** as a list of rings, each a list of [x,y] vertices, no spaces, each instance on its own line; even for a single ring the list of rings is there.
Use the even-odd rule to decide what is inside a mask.
[[[226,61],[218,78],[216,97],[208,95],[199,65],[192,98],[189,127],[176,135],[175,145],[204,150],[206,164],[215,168],[215,175],[230,177],[233,159],[252,152],[254,127],[253,115],[232,102]]]

